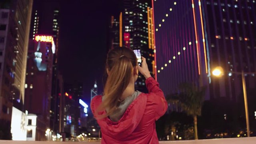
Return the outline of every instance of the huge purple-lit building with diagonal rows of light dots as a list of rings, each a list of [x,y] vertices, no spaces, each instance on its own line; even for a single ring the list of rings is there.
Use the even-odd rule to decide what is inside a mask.
[[[207,86],[206,100],[237,101],[241,76],[256,72],[255,0],[152,0],[154,2],[157,77],[165,94],[182,82]],[[222,66],[225,74],[211,71]],[[254,74],[247,89],[256,89]]]

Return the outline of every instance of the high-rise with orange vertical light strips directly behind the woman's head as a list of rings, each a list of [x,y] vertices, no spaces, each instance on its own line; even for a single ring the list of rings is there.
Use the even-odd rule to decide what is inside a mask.
[[[148,63],[151,75],[156,78],[154,55],[153,15],[150,0],[123,0],[123,10],[119,18],[111,18],[111,46],[125,46],[141,50]],[[137,90],[146,92],[145,79],[138,76]]]

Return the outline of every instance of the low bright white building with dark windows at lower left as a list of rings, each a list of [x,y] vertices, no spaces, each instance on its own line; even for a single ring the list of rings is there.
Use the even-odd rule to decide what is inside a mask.
[[[27,116],[27,140],[36,140],[36,114],[28,114]]]

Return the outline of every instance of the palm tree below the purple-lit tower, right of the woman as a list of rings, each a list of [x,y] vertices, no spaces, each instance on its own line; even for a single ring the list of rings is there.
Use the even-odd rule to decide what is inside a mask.
[[[194,118],[194,136],[198,140],[197,116],[201,116],[205,87],[198,88],[194,84],[183,83],[178,87],[179,93],[167,96],[168,102],[177,103],[186,114]]]

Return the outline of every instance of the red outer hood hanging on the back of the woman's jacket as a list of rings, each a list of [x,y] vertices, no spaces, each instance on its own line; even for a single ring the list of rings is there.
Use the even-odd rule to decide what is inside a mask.
[[[98,106],[102,103],[102,96],[97,96],[93,100],[95,104],[92,104],[92,111],[96,111]],[[92,102],[92,103],[94,103]],[[144,111],[146,109],[147,97],[146,94],[141,93],[126,109],[123,116],[118,122],[111,121],[108,117],[98,121],[101,127],[102,133],[112,138],[122,139],[135,130],[140,123]],[[105,115],[106,111],[98,112],[98,115]]]

